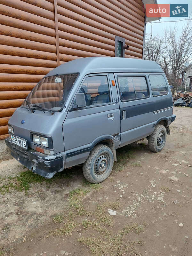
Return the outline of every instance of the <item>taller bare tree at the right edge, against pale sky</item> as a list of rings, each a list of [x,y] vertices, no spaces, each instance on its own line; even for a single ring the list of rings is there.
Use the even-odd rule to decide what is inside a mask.
[[[181,73],[185,68],[185,63],[192,57],[192,26],[188,21],[181,31],[176,28],[165,30],[165,50],[164,63],[168,69],[167,78],[169,84],[176,92],[182,77]]]

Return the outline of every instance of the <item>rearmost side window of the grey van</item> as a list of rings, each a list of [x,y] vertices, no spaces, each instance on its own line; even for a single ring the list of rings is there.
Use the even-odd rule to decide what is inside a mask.
[[[149,81],[151,84],[153,96],[168,94],[168,88],[164,76],[149,75]]]

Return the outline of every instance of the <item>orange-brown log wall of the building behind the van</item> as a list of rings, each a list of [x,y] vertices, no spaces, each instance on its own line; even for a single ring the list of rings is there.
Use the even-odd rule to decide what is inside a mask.
[[[81,57],[115,56],[115,36],[126,58],[142,59],[142,0],[0,0],[0,139],[7,122],[39,80]]]

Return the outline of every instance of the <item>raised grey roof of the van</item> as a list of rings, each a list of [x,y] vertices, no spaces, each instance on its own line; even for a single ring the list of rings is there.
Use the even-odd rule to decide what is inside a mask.
[[[87,57],[71,60],[51,70],[46,76],[72,73],[163,73],[155,61],[117,57]],[[46,77],[45,76],[45,77]]]

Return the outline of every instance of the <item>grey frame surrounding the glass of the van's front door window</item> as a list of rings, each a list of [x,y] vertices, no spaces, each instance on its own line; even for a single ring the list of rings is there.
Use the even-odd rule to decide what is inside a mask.
[[[75,101],[75,96],[77,93],[79,93],[82,85],[84,84],[84,81],[87,77],[91,77],[91,76],[107,76],[107,81],[108,81],[108,87],[109,87],[109,96],[110,96],[110,102],[107,102],[107,103],[103,103],[103,104],[95,104],[95,105],[89,105],[89,106],[86,106],[84,108],[77,108],[77,109],[72,109],[73,107],[73,104],[74,104],[74,101]],[[69,111],[77,111],[77,110],[82,110],[82,109],[87,109],[87,108],[94,108],[94,107],[102,107],[102,106],[105,106],[105,105],[111,105],[113,104],[113,99],[112,99],[112,92],[111,92],[111,85],[110,85],[110,80],[109,80],[109,75],[108,73],[93,73],[93,74],[87,74],[84,76],[84,78],[82,79],[76,93],[75,93],[75,96],[74,96],[74,99],[72,100],[72,103],[71,103],[71,106],[70,106],[70,110]]]

